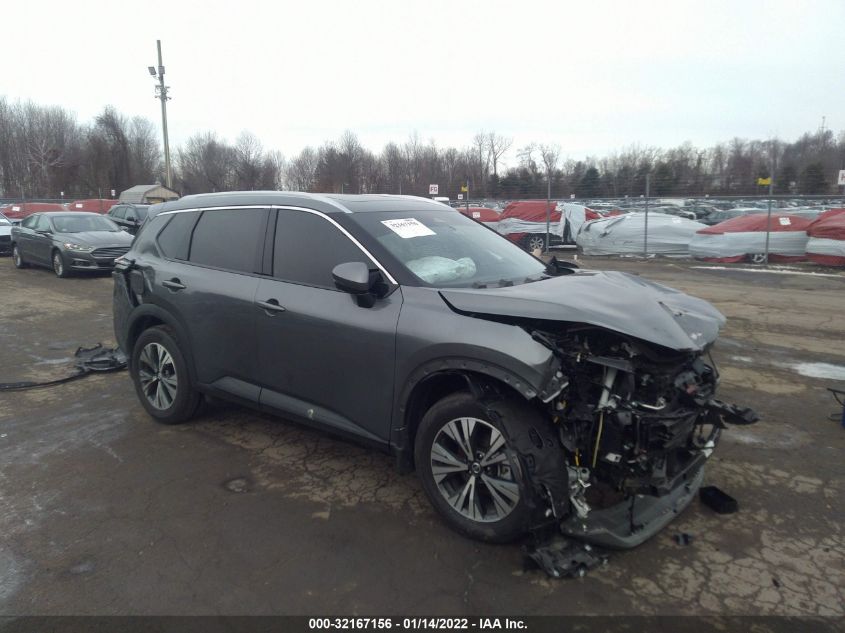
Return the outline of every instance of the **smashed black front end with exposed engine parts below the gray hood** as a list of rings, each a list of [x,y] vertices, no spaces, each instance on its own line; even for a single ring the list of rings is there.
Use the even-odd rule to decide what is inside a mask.
[[[568,536],[639,545],[692,500],[725,424],[757,420],[715,399],[707,348],[675,351],[590,326],[532,336],[558,363],[541,398],[566,461]]]

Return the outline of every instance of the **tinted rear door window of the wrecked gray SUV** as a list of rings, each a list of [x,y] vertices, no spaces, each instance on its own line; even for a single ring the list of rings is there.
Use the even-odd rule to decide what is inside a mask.
[[[264,244],[266,222],[266,209],[203,211],[188,259],[203,266],[256,272],[256,253]]]

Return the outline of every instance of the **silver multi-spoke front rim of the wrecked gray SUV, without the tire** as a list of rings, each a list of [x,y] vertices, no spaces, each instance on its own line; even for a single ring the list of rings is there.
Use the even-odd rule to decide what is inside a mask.
[[[431,445],[437,489],[461,516],[501,521],[519,503],[519,484],[504,435],[478,418],[456,418],[441,427]]]

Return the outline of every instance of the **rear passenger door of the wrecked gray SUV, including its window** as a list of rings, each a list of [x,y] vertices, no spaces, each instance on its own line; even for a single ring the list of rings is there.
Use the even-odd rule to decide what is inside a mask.
[[[156,240],[155,300],[178,315],[197,380],[258,401],[255,291],[266,208],[173,213]]]

